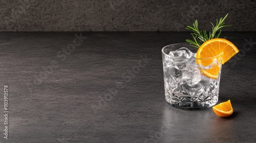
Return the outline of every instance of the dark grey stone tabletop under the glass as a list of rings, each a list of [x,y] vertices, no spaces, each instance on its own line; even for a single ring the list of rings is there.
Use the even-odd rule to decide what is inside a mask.
[[[222,68],[226,118],[165,101],[161,49],[189,33],[2,32],[0,142],[256,142],[256,33],[222,35],[240,49]]]

